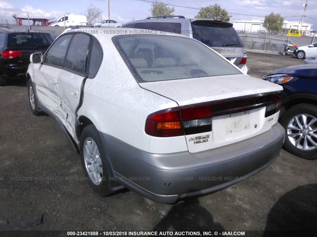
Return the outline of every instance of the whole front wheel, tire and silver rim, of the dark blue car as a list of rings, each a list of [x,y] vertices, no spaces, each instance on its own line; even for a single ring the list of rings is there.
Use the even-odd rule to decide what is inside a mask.
[[[285,129],[284,148],[305,159],[317,158],[317,106],[291,107],[280,120]]]

